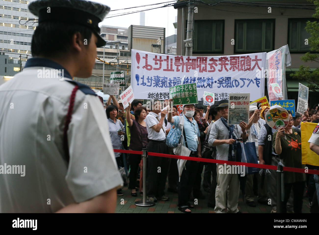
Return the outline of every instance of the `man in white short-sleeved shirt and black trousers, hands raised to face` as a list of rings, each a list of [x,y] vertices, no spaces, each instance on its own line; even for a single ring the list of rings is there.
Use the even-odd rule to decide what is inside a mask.
[[[151,112],[146,116],[146,128],[148,132],[147,151],[153,153],[167,153],[166,146],[166,127],[164,123],[167,110],[162,109],[159,100],[151,101]],[[160,113],[160,115],[159,115]],[[166,201],[164,189],[168,171],[168,158],[149,156],[147,158],[147,196],[149,200],[157,202],[157,198]]]

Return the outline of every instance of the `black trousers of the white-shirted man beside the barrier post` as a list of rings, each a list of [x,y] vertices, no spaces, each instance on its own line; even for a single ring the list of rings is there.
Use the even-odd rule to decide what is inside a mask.
[[[149,141],[147,145],[147,151],[153,153],[166,153],[166,143],[158,143]],[[161,197],[164,194],[167,171],[168,171],[168,158],[148,156],[147,158],[147,196],[149,197]],[[159,168],[160,167],[160,168]]]

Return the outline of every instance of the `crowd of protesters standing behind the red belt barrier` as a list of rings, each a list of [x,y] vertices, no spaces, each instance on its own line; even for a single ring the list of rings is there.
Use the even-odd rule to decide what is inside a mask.
[[[259,164],[304,168],[301,162],[300,123],[318,123],[318,106],[308,109],[302,115],[295,113],[294,117],[288,111],[288,125],[278,130],[272,129],[265,121],[267,111],[276,107],[279,106],[258,108],[256,105],[250,105],[248,123],[242,121],[238,125],[228,125],[228,100],[207,106],[206,113],[203,106],[195,104],[183,105],[182,112],[179,113],[172,100],[163,102],[155,99],[147,104],[133,100],[124,110],[122,101],[110,96],[105,105],[114,149],[141,151],[147,148],[148,152],[174,154],[173,147],[167,146],[166,138],[170,130],[179,128],[183,121],[182,134],[190,157],[236,161],[236,140],[240,139],[242,142],[255,143]],[[125,167],[129,170],[128,188],[131,190],[131,196],[137,197],[137,190],[142,195],[141,155],[115,153],[115,157],[119,168]],[[147,161],[145,193],[148,200],[153,202],[169,199],[165,195],[168,178],[167,192],[178,193],[178,209],[184,213],[191,213],[191,208],[194,207],[190,203],[191,198],[205,199],[201,187],[208,193],[207,206],[214,208],[216,213],[241,213],[238,199],[242,187],[248,206],[256,207],[257,203],[260,203],[271,206],[271,213],[277,212],[275,170],[264,169],[246,175],[243,183],[238,173],[225,174],[219,171],[223,164],[186,161],[179,176],[177,159],[152,156],[148,157]],[[319,168],[307,166],[309,169]],[[308,197],[309,206],[318,212],[313,175],[284,171],[284,192],[282,212],[301,213],[305,195]],[[123,195],[121,189],[117,190],[117,194]]]

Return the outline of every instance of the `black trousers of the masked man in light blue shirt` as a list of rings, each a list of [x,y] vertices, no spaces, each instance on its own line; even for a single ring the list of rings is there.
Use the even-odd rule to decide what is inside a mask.
[[[197,157],[190,154],[190,157]],[[185,169],[186,168],[186,169]],[[181,182],[178,185],[178,207],[189,206],[190,193],[194,185],[195,177],[198,170],[198,162],[188,160],[182,171]]]

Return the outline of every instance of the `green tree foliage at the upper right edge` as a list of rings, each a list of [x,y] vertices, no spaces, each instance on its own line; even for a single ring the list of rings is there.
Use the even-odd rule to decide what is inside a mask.
[[[319,0],[308,0],[309,2],[315,4],[315,14],[313,18],[318,19],[318,21],[308,21],[305,27],[306,31],[310,33],[308,38],[308,43],[310,46],[310,52],[307,52],[304,56],[301,56],[302,61],[317,62],[315,67],[319,67]],[[319,68],[316,68],[313,72],[310,72],[309,66],[300,66],[299,71],[290,75],[291,77],[299,80],[305,80],[309,83],[309,90],[318,91],[319,90]]]

